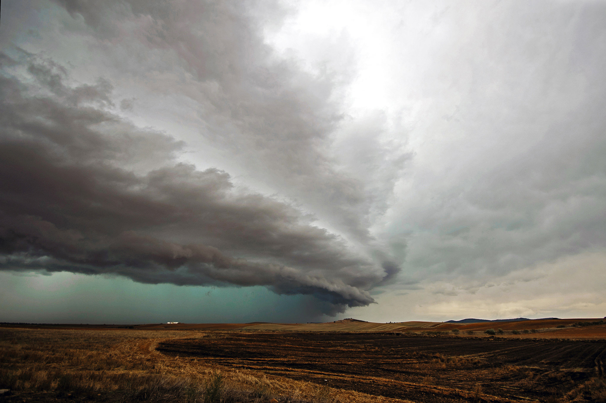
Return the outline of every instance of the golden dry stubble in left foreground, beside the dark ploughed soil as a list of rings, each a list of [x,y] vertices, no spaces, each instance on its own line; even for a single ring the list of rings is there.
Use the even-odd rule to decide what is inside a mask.
[[[155,350],[223,332],[0,328],[7,402],[396,402]]]

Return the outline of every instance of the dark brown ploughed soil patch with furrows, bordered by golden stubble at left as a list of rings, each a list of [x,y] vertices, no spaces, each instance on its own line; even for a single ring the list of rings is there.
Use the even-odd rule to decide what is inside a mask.
[[[606,361],[604,341],[400,333],[225,332],[161,342],[158,351],[426,402],[473,401],[477,384],[483,398],[493,402],[570,396],[592,376],[603,376]]]

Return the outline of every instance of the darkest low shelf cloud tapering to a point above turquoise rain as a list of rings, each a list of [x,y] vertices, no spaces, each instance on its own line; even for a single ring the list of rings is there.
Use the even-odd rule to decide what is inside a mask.
[[[70,87],[61,66],[15,53],[0,86],[2,269],[262,285],[328,312],[372,303],[397,271],[226,172],[176,162],[181,142],[110,113],[107,80]]]

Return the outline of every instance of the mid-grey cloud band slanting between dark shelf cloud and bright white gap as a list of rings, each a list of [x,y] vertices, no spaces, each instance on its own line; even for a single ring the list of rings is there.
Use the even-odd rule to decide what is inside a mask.
[[[104,41],[96,46],[124,48],[109,50],[112,57],[164,55],[150,62],[154,71],[169,69],[162,66],[168,59],[178,61],[199,86],[182,91],[205,105],[197,113],[211,128],[204,133],[208,141],[237,157],[245,171],[262,172],[266,185],[327,218],[351,241],[375,247],[368,230],[373,203],[389,194],[393,181],[365,183],[327,157],[328,136],[342,119],[329,102],[334,86],[330,74],[303,73],[264,44],[262,24],[287,13],[278,2],[57,2]],[[126,25],[135,28],[125,31]],[[145,70],[146,62],[137,67]]]

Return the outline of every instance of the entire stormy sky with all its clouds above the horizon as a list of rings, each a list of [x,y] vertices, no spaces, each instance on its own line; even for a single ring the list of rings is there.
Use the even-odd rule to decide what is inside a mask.
[[[5,0],[0,321],[606,315],[606,2]]]

